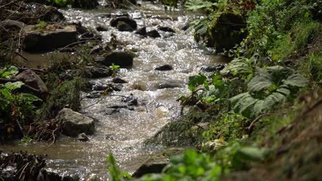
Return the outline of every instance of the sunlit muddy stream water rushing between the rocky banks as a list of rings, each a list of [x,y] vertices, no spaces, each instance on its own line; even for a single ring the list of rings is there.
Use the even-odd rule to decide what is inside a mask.
[[[107,10],[62,10],[71,22],[81,21],[87,27],[109,25],[109,18],[97,15]],[[142,38],[133,32],[118,32],[108,27],[107,32],[100,32],[103,40],[108,41],[115,34],[124,47],[135,51],[131,69],[120,69],[116,77],[126,80],[120,92],[113,96],[96,99],[85,98],[82,101],[84,114],[98,120],[96,133],[89,136],[90,141],[83,143],[76,138],[61,138],[49,149],[43,150],[49,143],[24,145],[12,143],[1,146],[7,151],[27,150],[36,154],[47,154],[50,160],[47,167],[59,173],[77,173],[82,180],[96,173],[102,180],[107,180],[105,167],[106,156],[114,154],[122,169],[132,173],[147,156],[160,147],[144,147],[142,142],[158,132],[163,125],[178,117],[180,105],[175,101],[180,95],[188,93],[186,83],[189,76],[197,74],[202,65],[215,65],[225,62],[220,56],[213,56],[213,50],[195,43],[191,33],[186,34],[181,28],[194,15],[175,11],[165,13],[162,6],[142,3],[140,11],[127,11],[136,19],[138,27],[147,26],[147,30],[157,29],[158,25],[171,27],[176,34],[160,32],[162,38]],[[122,12],[115,12],[121,14]],[[171,71],[154,71],[155,67],[171,64]],[[93,80],[96,84],[107,84],[111,78]],[[161,88],[165,82],[175,84],[175,88]],[[85,95],[84,95],[85,96]],[[138,106],[120,108],[116,112],[111,107],[124,104],[122,96],[138,98]]]

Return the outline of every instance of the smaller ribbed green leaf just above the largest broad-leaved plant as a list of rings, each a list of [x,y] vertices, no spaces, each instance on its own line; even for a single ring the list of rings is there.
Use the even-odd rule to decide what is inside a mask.
[[[222,69],[220,73],[222,75],[225,75],[228,73],[232,73],[233,75],[237,75],[239,73],[253,73],[253,67],[251,66],[252,62],[253,62],[253,58],[250,58],[250,59],[244,58],[244,57],[235,58],[227,65],[227,67]]]

